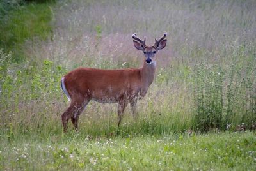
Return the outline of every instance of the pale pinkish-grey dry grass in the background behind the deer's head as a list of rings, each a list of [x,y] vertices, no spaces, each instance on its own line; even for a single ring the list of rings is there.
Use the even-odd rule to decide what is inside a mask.
[[[239,45],[255,39],[253,1],[74,1],[59,6],[54,40],[42,52],[69,68],[97,57],[141,61],[134,59],[139,54],[132,45],[133,33],[147,36],[149,44],[168,33],[168,47],[157,60],[160,66],[174,60],[184,65],[222,63]]]

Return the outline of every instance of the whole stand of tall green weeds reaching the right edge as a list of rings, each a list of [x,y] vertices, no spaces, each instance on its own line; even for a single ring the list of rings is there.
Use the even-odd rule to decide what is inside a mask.
[[[241,57],[241,53],[244,52],[240,48],[234,55]],[[244,57],[248,61],[244,61]],[[230,64],[227,70],[223,70],[221,66],[207,67],[206,64],[200,64],[196,68],[196,109],[193,121],[196,129],[234,130],[234,126],[241,123],[252,128],[256,119],[253,63],[255,59],[252,54],[244,54]]]

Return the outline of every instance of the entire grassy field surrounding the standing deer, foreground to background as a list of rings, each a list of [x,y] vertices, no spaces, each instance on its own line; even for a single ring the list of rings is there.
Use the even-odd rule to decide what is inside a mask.
[[[253,0],[1,1],[0,170],[255,170],[255,21]],[[92,101],[63,133],[61,77],[140,67],[133,33],[168,34],[138,121]]]

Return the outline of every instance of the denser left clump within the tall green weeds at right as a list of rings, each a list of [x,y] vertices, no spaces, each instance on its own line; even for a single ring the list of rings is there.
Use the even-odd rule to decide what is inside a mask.
[[[196,88],[196,114],[195,128],[209,130],[220,129],[223,116],[223,82],[224,71],[221,66],[212,68],[205,64],[198,66],[195,88]]]

